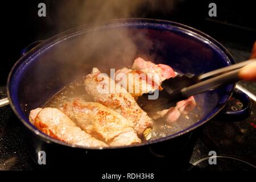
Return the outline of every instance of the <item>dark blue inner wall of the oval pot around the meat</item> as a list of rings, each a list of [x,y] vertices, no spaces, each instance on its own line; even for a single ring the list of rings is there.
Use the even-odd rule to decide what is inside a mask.
[[[30,110],[42,107],[65,85],[87,75],[93,67],[106,73],[110,68],[130,67],[138,56],[195,75],[234,63],[215,40],[173,22],[133,20],[96,28],[81,27],[79,31],[62,34],[61,38],[49,39],[18,61],[9,80],[11,104],[19,117],[31,125]],[[233,85],[228,85],[197,95],[199,121],[179,133],[216,114],[232,89]]]

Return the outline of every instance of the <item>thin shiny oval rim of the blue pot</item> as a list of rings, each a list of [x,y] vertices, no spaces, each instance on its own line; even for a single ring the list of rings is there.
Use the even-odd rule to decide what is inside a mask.
[[[135,144],[135,145],[131,145],[131,146],[103,147],[103,148],[78,146],[76,144],[69,144],[69,143],[61,142],[60,140],[49,137],[48,135],[42,133],[39,130],[36,130],[34,127],[29,125],[28,122],[25,121],[20,116],[18,111],[16,110],[16,107],[15,107],[15,105],[13,103],[13,100],[11,99],[11,95],[10,95],[11,78],[13,77],[13,74],[16,71],[16,68],[19,68],[19,64],[21,64],[28,57],[32,56],[34,54],[35,50],[40,51],[40,49],[43,49],[44,47],[53,46],[54,44],[57,44],[60,41],[63,41],[65,39],[71,38],[72,36],[75,36],[75,35],[79,34],[80,32],[95,30],[97,28],[103,28],[103,27],[106,27],[106,26],[111,26],[111,25],[114,25],[114,24],[121,24],[121,23],[125,23],[125,24],[126,23],[139,23],[139,24],[141,24],[141,23],[151,23],[151,24],[159,24],[159,26],[177,27],[177,28],[183,29],[184,31],[189,31],[189,32],[191,32],[192,35],[195,35],[197,38],[201,37],[201,38],[209,40],[209,42],[213,43],[213,46],[218,47],[219,49],[221,49],[221,51],[223,51],[226,54],[226,56],[228,57],[231,64],[235,63],[235,61],[234,61],[231,53],[228,51],[228,49],[226,49],[224,46],[222,46],[221,43],[217,42],[217,40],[213,39],[211,36],[205,34],[204,32],[196,30],[195,28],[186,26],[186,25],[181,24],[181,23],[172,22],[170,20],[146,19],[146,18],[113,19],[113,20],[106,21],[105,23],[84,24],[84,25],[79,26],[79,27],[71,28],[67,31],[61,32],[60,34],[52,36],[51,38],[47,39],[46,41],[38,44],[38,46],[32,48],[25,55],[20,57],[20,59],[18,61],[16,61],[16,63],[14,64],[13,68],[11,69],[11,71],[9,73],[8,80],[7,80],[7,96],[8,96],[9,101],[10,101],[10,106],[11,106],[11,109],[13,109],[16,117],[18,117],[18,119],[20,121],[22,121],[23,125],[26,126],[28,130],[30,130],[32,133],[34,133],[35,135],[42,138],[47,143],[57,143],[57,144],[61,144],[63,146],[72,147],[72,148],[82,148],[82,149],[86,149],[86,150],[113,150],[113,149],[117,149],[117,148],[142,147],[142,146],[148,146],[148,145],[154,144],[154,143],[163,142],[163,141],[166,141],[166,140],[169,140],[169,139],[172,139],[172,138],[179,137],[180,135],[186,134],[186,133],[196,129],[197,127],[200,127],[204,123],[208,122],[210,119],[212,119],[215,115],[217,115],[225,107],[226,102],[228,102],[229,98],[232,96],[232,94],[234,92],[235,84],[232,84],[232,85],[229,86],[230,91],[229,91],[229,94],[227,94],[228,97],[226,97],[222,106],[216,106],[211,111],[211,112],[213,112],[214,110],[216,110],[216,111],[213,112],[213,114],[207,115],[205,118],[203,118],[200,121],[194,123],[192,126],[188,127],[187,129],[181,130],[181,131],[179,131],[175,134],[171,134],[171,135],[168,135],[167,137],[155,139],[155,140],[152,140],[150,142]]]

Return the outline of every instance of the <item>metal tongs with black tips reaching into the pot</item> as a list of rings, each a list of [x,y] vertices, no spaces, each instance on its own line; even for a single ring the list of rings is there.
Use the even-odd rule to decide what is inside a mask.
[[[185,100],[190,96],[239,81],[238,73],[241,68],[255,60],[243,61],[199,76],[191,73],[185,75],[177,73],[176,77],[163,81],[162,90],[145,93],[138,98],[137,102],[145,111],[175,107],[178,101]]]

